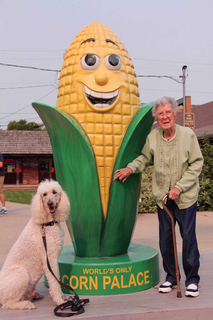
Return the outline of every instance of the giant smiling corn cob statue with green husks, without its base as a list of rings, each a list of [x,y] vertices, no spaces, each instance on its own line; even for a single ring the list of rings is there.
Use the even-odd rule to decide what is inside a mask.
[[[120,39],[93,22],[72,41],[56,109],[33,104],[52,144],[57,180],[71,202],[67,222],[79,256],[113,256],[131,241],[140,174],[122,185],[115,170],[140,154],[153,122],[141,108],[132,61]]]

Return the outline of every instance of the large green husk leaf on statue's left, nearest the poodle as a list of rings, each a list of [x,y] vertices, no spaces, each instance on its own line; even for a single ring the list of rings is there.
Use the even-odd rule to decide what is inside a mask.
[[[98,257],[104,225],[95,156],[81,125],[69,114],[33,103],[45,125],[54,156],[57,181],[70,199],[66,221],[76,255]]]

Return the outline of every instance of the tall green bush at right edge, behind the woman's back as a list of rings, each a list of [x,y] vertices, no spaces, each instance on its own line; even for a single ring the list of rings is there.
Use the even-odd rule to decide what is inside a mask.
[[[203,134],[202,155],[204,163],[199,177],[200,191],[198,211],[213,211],[213,144],[209,143],[207,132]]]

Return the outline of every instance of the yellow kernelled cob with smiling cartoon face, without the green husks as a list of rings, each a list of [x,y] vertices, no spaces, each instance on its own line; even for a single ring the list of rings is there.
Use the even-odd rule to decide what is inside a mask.
[[[141,106],[132,61],[112,30],[93,22],[75,37],[65,55],[57,97],[56,108],[73,116],[91,141],[106,219],[115,159]]]

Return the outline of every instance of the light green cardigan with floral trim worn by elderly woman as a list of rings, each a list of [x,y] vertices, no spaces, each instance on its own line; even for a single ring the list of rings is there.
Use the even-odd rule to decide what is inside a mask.
[[[152,194],[162,209],[162,199],[169,188],[180,190],[178,199],[175,199],[179,209],[194,204],[200,190],[198,176],[202,170],[203,157],[196,135],[189,128],[178,124],[175,126],[176,134],[171,140],[164,139],[160,127],[152,130],[141,156],[127,165],[133,173],[154,165]]]

